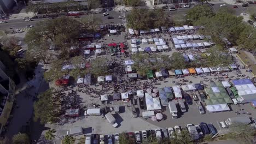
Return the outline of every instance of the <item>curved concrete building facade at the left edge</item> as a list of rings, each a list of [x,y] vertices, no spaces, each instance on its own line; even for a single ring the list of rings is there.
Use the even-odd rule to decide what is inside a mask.
[[[0,62],[0,134],[8,122],[15,96],[15,84],[7,74],[5,66]]]

